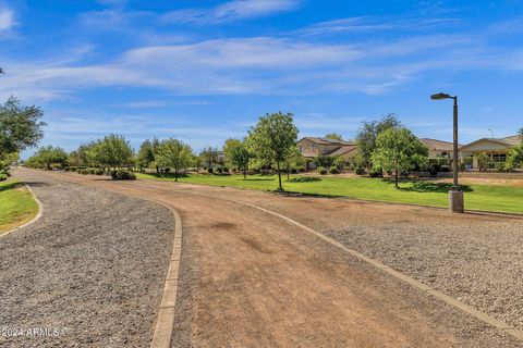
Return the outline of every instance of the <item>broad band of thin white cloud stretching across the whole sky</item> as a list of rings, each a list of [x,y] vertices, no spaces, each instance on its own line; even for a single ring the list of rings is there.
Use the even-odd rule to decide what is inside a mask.
[[[88,47],[80,50],[84,51]],[[2,77],[0,97],[14,92],[60,99],[105,86],[156,88],[179,96],[379,95],[430,71],[523,69],[518,63],[521,57],[521,52],[484,47],[470,36],[415,36],[352,45],[303,37],[215,39],[141,47],[96,65],[78,66],[68,60],[56,60],[60,64],[5,62],[10,70]]]

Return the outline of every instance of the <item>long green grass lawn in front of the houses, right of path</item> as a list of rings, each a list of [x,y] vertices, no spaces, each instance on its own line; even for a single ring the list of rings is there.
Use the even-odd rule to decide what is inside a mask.
[[[138,174],[138,178],[151,178],[172,182],[172,176],[159,177],[156,174]],[[299,176],[292,176],[299,177]],[[291,177],[291,178],[292,178]],[[242,175],[188,175],[179,178],[181,183],[209,186],[242,187],[259,190],[275,190],[278,176],[251,175],[244,181]],[[348,197],[398,203],[412,203],[429,207],[448,207],[450,184],[443,183],[401,183],[401,188],[380,178],[367,177],[321,177],[318,182],[293,183],[283,178],[283,188],[288,191]],[[471,185],[465,186],[465,208],[506,213],[523,213],[523,187]]]

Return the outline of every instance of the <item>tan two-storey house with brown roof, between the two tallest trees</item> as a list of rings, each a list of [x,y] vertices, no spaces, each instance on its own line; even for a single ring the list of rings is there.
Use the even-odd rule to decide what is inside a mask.
[[[349,161],[356,154],[356,145],[330,138],[305,137],[296,142],[302,156],[306,159],[305,170],[314,170],[314,159],[320,156],[341,157]]]

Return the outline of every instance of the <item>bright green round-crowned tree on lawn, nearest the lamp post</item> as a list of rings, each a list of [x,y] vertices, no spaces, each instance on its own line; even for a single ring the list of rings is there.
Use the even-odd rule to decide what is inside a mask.
[[[394,187],[398,188],[400,173],[413,170],[427,160],[428,150],[411,130],[389,128],[376,138],[376,150],[372,161],[376,169],[394,173]]]

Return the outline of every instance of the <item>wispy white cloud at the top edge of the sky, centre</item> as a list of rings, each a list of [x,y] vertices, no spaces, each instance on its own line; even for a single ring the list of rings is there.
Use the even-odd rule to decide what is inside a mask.
[[[212,9],[184,9],[167,13],[163,23],[223,23],[296,9],[299,0],[234,0]]]

